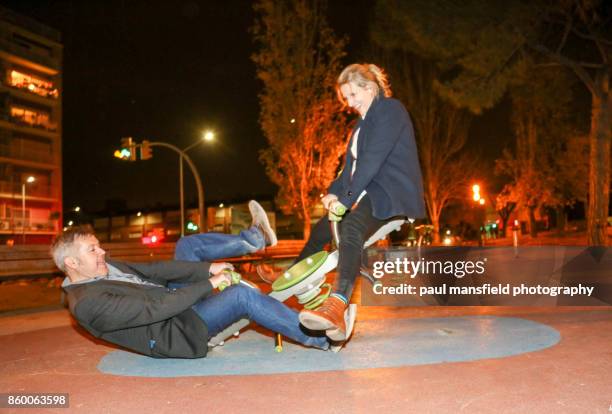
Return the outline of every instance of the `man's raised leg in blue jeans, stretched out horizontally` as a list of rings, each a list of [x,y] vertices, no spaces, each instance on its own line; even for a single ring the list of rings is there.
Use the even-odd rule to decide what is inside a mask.
[[[244,256],[266,247],[261,230],[251,227],[240,234],[201,233],[176,242],[175,260],[211,262],[225,257]]]

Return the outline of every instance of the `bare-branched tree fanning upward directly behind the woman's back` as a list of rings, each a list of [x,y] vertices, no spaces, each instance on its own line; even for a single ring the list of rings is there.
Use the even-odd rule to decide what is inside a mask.
[[[474,177],[475,161],[462,151],[472,117],[436,94],[433,87],[439,71],[434,62],[398,50],[379,53],[394,94],[405,103],[414,123],[425,204],[438,243],[442,211],[452,201],[465,198]]]

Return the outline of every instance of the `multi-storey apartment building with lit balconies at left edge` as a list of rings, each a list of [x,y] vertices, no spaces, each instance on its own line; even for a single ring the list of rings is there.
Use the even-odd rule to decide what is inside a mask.
[[[0,244],[47,243],[60,228],[60,42],[0,6]]]

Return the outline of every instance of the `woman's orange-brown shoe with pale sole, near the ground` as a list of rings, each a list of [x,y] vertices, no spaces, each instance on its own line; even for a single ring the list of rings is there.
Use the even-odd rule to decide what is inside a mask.
[[[300,323],[312,331],[331,330],[334,337],[328,337],[334,341],[344,340],[346,337],[346,323],[344,311],[347,306],[341,299],[330,296],[316,310],[303,309],[300,312]],[[338,332],[336,332],[338,331]]]

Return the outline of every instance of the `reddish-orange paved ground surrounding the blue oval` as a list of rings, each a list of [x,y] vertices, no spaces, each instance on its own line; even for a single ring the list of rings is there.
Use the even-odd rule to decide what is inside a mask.
[[[358,323],[465,315],[525,318],[556,329],[561,340],[540,351],[470,362],[274,375],[125,377],[98,370],[101,358],[115,349],[76,329],[66,311],[59,310],[0,318],[0,392],[69,393],[66,411],[87,413],[610,412],[612,308],[362,306]],[[392,338],[393,332],[383,335]]]

